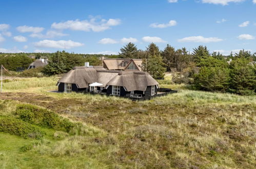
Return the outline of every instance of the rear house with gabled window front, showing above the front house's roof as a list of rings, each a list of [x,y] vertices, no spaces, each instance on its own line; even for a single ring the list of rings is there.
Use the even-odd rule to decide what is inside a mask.
[[[141,71],[142,59],[121,59],[102,57],[102,66],[108,70]]]

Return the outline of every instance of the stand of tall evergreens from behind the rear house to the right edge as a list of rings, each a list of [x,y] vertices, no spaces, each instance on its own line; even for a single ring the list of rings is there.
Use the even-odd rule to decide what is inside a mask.
[[[163,51],[151,43],[145,51],[137,50],[132,43],[120,50],[121,58],[143,59],[142,69],[154,78],[162,78],[166,71],[172,72],[172,81],[187,83],[204,91],[255,94],[256,53],[240,50],[228,56],[220,52],[210,53],[206,46],[175,50],[167,45]],[[229,59],[232,61],[229,62]]]

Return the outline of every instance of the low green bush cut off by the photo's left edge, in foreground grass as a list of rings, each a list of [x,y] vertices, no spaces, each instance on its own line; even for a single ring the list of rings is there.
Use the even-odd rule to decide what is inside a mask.
[[[0,118],[0,132],[5,132],[24,138],[42,138],[45,133],[36,126],[14,118]]]

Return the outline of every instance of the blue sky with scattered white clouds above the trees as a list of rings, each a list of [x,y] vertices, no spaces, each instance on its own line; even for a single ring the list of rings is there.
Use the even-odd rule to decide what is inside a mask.
[[[256,52],[256,0],[0,0],[0,52],[117,54],[129,42]]]

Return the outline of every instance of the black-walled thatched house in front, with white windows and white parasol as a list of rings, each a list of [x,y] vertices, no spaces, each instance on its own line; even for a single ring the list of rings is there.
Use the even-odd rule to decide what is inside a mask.
[[[92,92],[124,97],[157,94],[159,83],[147,72],[74,67],[57,82],[59,92]]]

